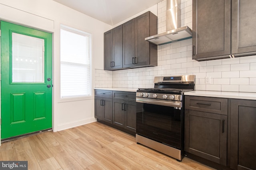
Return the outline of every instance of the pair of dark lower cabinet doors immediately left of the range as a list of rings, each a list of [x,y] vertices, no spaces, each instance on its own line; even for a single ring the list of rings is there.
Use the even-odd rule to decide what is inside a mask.
[[[113,124],[136,132],[136,102],[113,100]]]

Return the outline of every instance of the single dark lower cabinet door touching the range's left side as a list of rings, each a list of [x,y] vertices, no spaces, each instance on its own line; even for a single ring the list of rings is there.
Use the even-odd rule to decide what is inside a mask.
[[[136,102],[124,104],[124,128],[136,132]]]

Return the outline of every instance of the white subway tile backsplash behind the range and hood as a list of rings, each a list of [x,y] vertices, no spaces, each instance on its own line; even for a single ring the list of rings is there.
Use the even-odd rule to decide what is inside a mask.
[[[181,0],[182,26],[192,29],[192,0]],[[158,33],[166,25],[166,0],[158,3]],[[95,87],[152,88],[154,76],[196,75],[196,90],[256,92],[256,56],[192,60],[192,39],[158,46],[158,66],[129,70],[95,70]],[[205,76],[211,83],[205,84]],[[111,77],[112,81],[105,80]]]

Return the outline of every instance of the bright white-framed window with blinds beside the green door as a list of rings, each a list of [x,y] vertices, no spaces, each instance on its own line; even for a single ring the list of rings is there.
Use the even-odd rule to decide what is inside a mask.
[[[89,96],[91,93],[91,35],[61,26],[60,97]]]

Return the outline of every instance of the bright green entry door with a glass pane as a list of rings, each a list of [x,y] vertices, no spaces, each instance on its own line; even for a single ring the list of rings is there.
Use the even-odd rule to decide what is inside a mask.
[[[52,34],[0,21],[1,139],[52,128]]]

